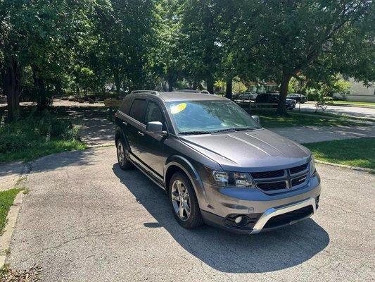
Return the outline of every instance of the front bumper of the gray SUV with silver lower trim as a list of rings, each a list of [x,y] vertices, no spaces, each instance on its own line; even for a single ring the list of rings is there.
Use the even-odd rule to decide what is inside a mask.
[[[258,189],[212,186],[206,186],[205,192],[210,199],[208,208],[201,209],[205,223],[234,233],[255,234],[312,216],[318,208],[321,187],[319,176],[313,176],[305,187],[277,195],[267,195]],[[246,225],[235,223],[238,216],[247,220]]]

